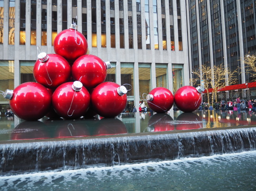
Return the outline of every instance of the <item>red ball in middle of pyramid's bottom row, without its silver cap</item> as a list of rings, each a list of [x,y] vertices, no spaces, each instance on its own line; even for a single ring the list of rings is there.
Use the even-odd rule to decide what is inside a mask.
[[[66,119],[77,119],[81,117],[90,104],[90,94],[88,90],[83,86],[82,90],[75,92],[72,89],[72,84],[73,82],[61,84],[52,95],[53,108],[59,116]]]

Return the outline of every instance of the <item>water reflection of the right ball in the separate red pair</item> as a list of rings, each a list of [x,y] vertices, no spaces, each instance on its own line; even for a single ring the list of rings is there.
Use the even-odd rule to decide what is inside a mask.
[[[203,128],[203,119],[195,113],[181,113],[177,117],[176,130],[200,129]]]

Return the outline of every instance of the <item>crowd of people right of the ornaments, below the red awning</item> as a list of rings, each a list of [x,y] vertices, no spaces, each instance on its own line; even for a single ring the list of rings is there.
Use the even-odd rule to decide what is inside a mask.
[[[234,110],[234,111],[256,111],[256,99],[251,99],[249,101],[241,100],[240,97],[237,97],[235,100],[226,101],[222,99],[213,105],[208,105],[207,103],[202,103],[199,107],[199,110]]]

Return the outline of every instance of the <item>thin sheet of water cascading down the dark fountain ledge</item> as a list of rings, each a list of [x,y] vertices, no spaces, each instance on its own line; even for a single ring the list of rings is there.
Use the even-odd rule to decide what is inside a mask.
[[[0,144],[0,174],[92,165],[243,152],[256,149],[256,127],[206,131],[170,131],[69,140],[5,141]]]

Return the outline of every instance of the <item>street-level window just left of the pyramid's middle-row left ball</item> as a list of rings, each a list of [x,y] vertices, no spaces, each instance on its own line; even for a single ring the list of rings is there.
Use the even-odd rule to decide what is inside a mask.
[[[21,73],[21,84],[25,82],[36,82],[33,75],[34,63],[36,61],[21,61],[20,62],[20,73]]]

